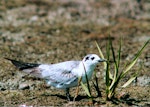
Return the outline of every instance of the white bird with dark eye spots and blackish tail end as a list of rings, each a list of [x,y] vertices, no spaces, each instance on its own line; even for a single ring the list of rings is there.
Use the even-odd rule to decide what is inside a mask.
[[[80,61],[72,60],[56,64],[25,63],[10,58],[5,59],[11,61],[19,70],[44,79],[48,86],[65,90],[68,101],[71,97],[69,89],[78,86],[79,77],[82,78],[83,83],[86,83],[86,78],[91,79],[96,65],[107,61],[96,54],[88,54]]]

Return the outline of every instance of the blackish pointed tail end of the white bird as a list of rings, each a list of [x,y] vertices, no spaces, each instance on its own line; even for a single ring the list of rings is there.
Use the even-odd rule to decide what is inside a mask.
[[[19,68],[19,70],[34,68],[40,65],[40,64],[33,64],[33,63],[24,63],[24,62],[16,61],[16,60],[9,59],[9,58],[5,58],[5,59],[11,61],[17,68]]]

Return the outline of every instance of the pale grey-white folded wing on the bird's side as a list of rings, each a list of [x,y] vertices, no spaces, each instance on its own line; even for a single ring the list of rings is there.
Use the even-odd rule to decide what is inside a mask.
[[[70,79],[77,79],[72,69],[79,65],[80,61],[67,61],[52,65],[40,65],[42,77],[51,84],[67,84]]]

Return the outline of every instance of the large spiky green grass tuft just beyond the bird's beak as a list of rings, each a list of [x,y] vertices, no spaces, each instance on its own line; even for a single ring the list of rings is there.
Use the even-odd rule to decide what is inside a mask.
[[[131,60],[131,62],[129,64],[125,64],[125,67],[123,69],[123,71],[120,71],[119,67],[120,67],[120,57],[121,57],[121,42],[122,40],[120,40],[120,45],[119,45],[119,50],[118,50],[118,57],[115,56],[115,51],[114,51],[114,47],[112,44],[111,39],[109,39],[108,43],[107,43],[107,49],[106,49],[106,53],[107,53],[107,64],[106,62],[104,62],[104,69],[106,70],[106,99],[107,100],[113,100],[114,96],[115,96],[115,90],[118,86],[118,84],[120,83],[120,80],[123,79],[129,72],[129,70],[131,68],[133,68],[134,64],[136,63],[137,59],[139,58],[139,56],[141,55],[143,49],[148,45],[150,39],[145,42],[145,44],[143,45],[143,47],[135,54],[134,58]],[[101,55],[101,57],[103,58],[104,55],[102,54],[99,46],[97,45],[99,53]],[[110,63],[109,63],[109,59],[110,59],[110,51],[112,52],[112,57],[113,57],[113,61],[114,61],[114,70],[110,69]],[[111,73],[111,71],[113,71],[113,74]],[[124,83],[124,85],[122,85],[123,88],[127,87],[135,78],[137,77],[137,72],[134,72],[134,74],[130,77],[130,79]]]

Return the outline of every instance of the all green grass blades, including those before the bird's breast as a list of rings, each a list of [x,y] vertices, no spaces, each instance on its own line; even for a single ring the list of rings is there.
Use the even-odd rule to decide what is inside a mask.
[[[124,69],[121,71],[119,69],[120,67],[120,59],[121,59],[121,46],[122,46],[122,40],[120,40],[119,43],[119,50],[118,50],[118,56],[116,57],[115,55],[115,51],[114,51],[114,47],[112,44],[112,40],[108,39],[107,42],[107,47],[106,47],[106,56],[107,56],[107,62],[104,62],[104,69],[106,70],[106,75],[105,75],[105,84],[106,84],[106,100],[111,100],[113,101],[115,98],[115,93],[116,93],[116,89],[118,87],[118,84],[120,83],[120,81],[128,74],[128,72],[130,71],[131,68],[133,68],[133,66],[135,65],[137,59],[139,58],[139,56],[141,55],[143,49],[148,45],[148,43],[150,42],[150,39],[148,41],[145,42],[145,44],[142,46],[142,48],[135,54],[134,58],[131,60],[131,62],[126,63]],[[100,47],[98,46],[97,42],[96,42],[97,48],[99,50],[100,56],[102,59],[104,58],[104,55],[102,54],[102,51],[100,49]],[[110,51],[112,54],[110,54]],[[110,68],[110,66],[112,66],[110,64],[110,57],[112,55],[113,58],[113,62],[112,63],[114,65],[114,69]],[[113,71],[113,73],[112,73]],[[122,87],[125,88],[127,87],[129,84],[132,83],[133,80],[135,80],[135,78],[137,77],[138,72],[134,72],[130,78],[128,79],[127,82],[125,82]],[[89,81],[88,78],[86,78],[87,80],[87,86],[84,85],[81,82],[81,86],[82,88],[85,90],[86,94],[89,96],[89,98],[92,98],[91,95],[91,87],[89,85]],[[94,84],[97,94],[100,94],[99,89],[98,89],[98,82],[97,80],[95,80],[96,84]],[[91,99],[93,102],[93,99]]]

